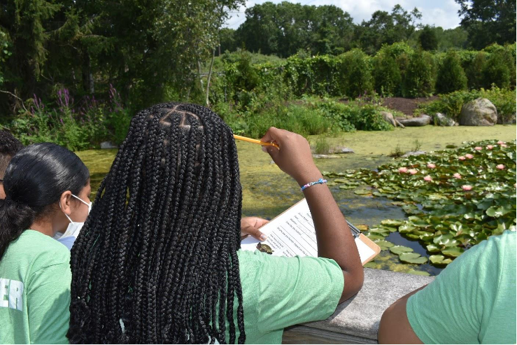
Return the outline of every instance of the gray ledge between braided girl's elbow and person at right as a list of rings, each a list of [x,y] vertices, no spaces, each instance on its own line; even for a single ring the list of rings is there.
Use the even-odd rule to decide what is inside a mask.
[[[376,344],[386,308],[400,297],[434,278],[364,269],[362,290],[337,307],[325,321],[293,326],[284,332],[284,344]]]

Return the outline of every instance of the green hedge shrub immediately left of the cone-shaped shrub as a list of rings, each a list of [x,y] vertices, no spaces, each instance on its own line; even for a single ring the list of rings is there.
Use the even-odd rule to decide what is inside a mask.
[[[434,60],[429,52],[417,51],[409,58],[404,76],[404,97],[427,97],[434,91]]]

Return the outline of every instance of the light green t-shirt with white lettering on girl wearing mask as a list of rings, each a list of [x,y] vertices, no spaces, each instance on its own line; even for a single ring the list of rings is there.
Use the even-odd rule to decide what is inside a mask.
[[[26,230],[0,260],[0,344],[68,344],[70,252]]]

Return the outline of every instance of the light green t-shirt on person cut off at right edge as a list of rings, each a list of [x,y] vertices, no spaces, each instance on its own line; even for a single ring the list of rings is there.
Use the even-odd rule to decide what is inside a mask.
[[[406,313],[425,344],[515,344],[516,233],[469,249],[409,297]]]

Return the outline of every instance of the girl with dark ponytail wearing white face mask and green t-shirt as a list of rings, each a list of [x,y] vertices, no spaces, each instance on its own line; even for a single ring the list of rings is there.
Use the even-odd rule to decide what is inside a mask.
[[[20,150],[0,200],[0,344],[68,344],[70,251],[90,211],[90,172],[52,143]],[[64,237],[66,239],[67,237]]]

